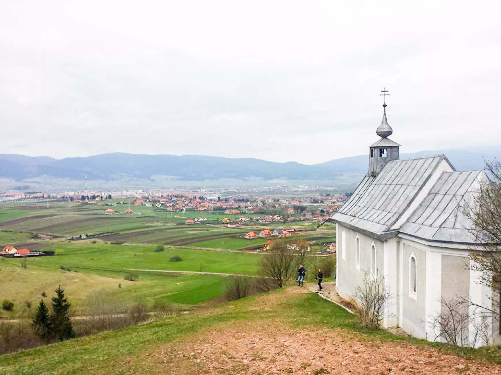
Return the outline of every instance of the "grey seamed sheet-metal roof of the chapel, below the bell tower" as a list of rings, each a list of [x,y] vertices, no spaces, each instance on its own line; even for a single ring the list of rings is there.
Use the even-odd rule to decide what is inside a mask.
[[[448,162],[444,155],[390,161],[376,177],[365,176],[332,219],[383,240],[402,233],[436,243],[478,243],[464,211],[474,207],[479,184],[488,177],[483,171],[457,172],[450,163],[452,171],[437,171],[442,160]],[[434,172],[440,174],[430,190],[392,228]]]

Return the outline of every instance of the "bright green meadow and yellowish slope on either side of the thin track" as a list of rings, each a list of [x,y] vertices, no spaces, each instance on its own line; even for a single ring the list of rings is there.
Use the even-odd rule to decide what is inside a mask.
[[[155,252],[154,246],[147,245],[57,241],[48,244],[50,247],[46,249],[55,250],[57,254],[28,258],[26,268],[22,267],[24,259],[0,259],[0,300],[15,302],[14,311],[0,311],[0,316],[31,313],[26,308],[27,302],[35,305],[40,299],[49,300],[58,285],[66,289],[76,314],[85,313],[85,299],[96,293],[106,294],[110,300],[119,298],[129,305],[137,301],[148,305],[163,301],[191,306],[220,295],[225,276],[131,269],[255,274],[260,256],[179,248]],[[182,260],[170,261],[175,255]],[[138,280],[125,280],[128,273],[136,273]],[[43,292],[46,292],[46,298],[42,296]]]

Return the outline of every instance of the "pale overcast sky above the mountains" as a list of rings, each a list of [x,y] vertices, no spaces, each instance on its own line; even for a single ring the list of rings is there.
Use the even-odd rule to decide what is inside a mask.
[[[501,1],[2,1],[2,153],[501,144]]]

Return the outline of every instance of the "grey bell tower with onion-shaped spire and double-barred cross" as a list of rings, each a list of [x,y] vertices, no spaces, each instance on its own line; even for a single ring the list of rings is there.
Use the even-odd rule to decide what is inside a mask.
[[[400,144],[388,138],[393,133],[393,129],[386,119],[386,96],[390,94],[387,93],[388,90],[386,90],[386,87],[384,90],[381,90],[381,92],[382,94],[379,95],[384,96],[383,119],[381,120],[381,125],[376,129],[376,134],[379,135],[381,139],[369,146],[369,172],[367,173],[369,177],[377,176],[386,163],[392,160],[398,160],[400,157],[400,151],[398,149]]]

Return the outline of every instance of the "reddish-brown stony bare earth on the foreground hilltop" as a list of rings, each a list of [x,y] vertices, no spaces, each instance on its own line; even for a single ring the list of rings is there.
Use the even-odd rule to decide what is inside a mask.
[[[140,360],[168,374],[496,374],[501,366],[405,342],[363,341],[340,329],[231,322]]]

